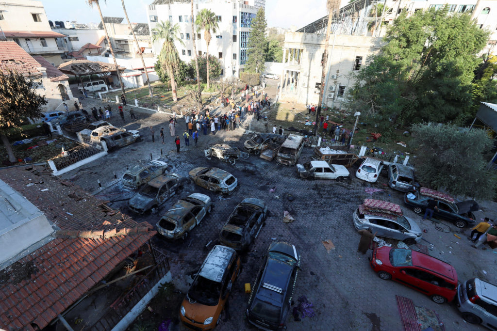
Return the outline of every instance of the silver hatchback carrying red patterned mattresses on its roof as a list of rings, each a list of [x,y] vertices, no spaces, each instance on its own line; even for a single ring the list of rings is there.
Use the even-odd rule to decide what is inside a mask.
[[[421,240],[421,229],[412,219],[406,216],[382,217],[378,215],[361,214],[357,208],[352,219],[357,230],[371,228],[377,236],[402,240],[413,245]]]

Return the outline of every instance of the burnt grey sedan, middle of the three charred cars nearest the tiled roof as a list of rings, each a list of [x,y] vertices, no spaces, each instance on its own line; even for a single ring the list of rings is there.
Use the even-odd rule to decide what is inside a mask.
[[[128,201],[128,207],[139,214],[147,210],[156,213],[167,199],[178,192],[183,185],[183,179],[174,173],[160,175],[145,184],[140,191]]]

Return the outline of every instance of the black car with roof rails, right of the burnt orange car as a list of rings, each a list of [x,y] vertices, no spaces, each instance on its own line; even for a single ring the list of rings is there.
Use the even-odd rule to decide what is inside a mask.
[[[294,245],[269,245],[250,298],[246,317],[263,330],[282,330],[290,312],[293,290],[300,266],[300,253]]]

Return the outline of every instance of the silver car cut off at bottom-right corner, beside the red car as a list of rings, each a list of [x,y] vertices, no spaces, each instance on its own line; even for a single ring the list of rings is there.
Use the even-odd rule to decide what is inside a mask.
[[[497,329],[497,286],[478,278],[468,279],[459,284],[456,297],[466,322]]]

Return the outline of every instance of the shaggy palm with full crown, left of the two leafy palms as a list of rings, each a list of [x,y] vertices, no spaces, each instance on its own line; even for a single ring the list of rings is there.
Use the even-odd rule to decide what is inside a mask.
[[[169,21],[162,21],[157,24],[157,27],[152,29],[152,42],[164,39],[162,44],[161,53],[159,54],[159,61],[163,67],[166,67],[167,74],[171,81],[172,100],[178,101],[176,94],[176,82],[174,81],[174,72],[177,71],[179,66],[179,54],[174,42],[178,41],[184,45],[183,41],[178,38],[179,25],[172,25]]]

